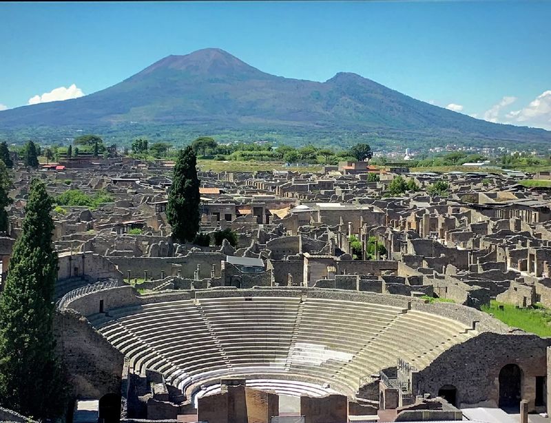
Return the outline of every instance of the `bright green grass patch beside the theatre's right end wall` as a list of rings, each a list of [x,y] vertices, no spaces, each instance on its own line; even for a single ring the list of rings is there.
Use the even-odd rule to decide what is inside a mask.
[[[503,310],[499,306],[503,306]],[[533,307],[517,308],[512,304],[490,301],[490,305],[483,305],[481,310],[491,313],[506,325],[518,327],[523,331],[539,336],[551,336],[551,310],[541,304]]]

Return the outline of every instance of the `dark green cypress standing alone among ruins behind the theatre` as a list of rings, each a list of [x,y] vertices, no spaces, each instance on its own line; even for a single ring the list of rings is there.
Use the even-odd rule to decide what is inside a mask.
[[[168,192],[167,219],[180,242],[193,241],[199,230],[197,158],[191,147],[180,150]]]

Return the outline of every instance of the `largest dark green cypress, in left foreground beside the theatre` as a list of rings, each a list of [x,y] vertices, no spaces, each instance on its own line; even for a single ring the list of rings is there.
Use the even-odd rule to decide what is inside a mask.
[[[33,180],[0,297],[0,403],[35,418],[60,415],[65,398],[54,356],[57,254],[50,210],[44,183]]]

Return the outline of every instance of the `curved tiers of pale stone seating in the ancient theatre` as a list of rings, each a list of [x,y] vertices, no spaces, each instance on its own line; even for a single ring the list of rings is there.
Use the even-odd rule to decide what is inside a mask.
[[[188,396],[234,376],[279,380],[273,387],[281,391],[282,380],[329,384],[353,396],[362,378],[398,358],[423,369],[477,334],[435,314],[308,296],[170,301],[90,321],[136,373],[160,371]]]

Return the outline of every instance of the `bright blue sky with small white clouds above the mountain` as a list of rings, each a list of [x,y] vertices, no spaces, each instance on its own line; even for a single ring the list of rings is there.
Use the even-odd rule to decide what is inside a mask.
[[[91,94],[169,54],[220,47],[271,74],[355,72],[551,129],[550,1],[0,3],[0,17],[0,108]]]

